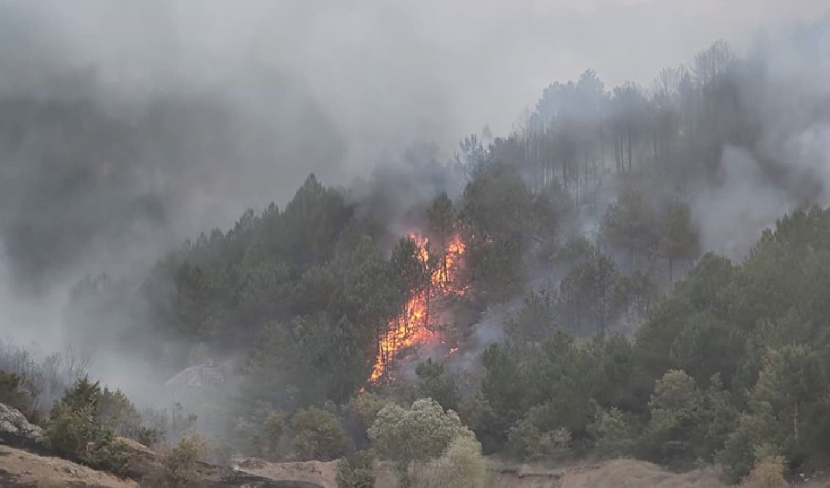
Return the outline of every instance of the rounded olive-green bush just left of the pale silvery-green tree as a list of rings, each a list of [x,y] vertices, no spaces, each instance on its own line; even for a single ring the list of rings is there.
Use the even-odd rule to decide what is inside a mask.
[[[320,408],[309,407],[291,418],[294,454],[300,461],[330,461],[346,451],[346,434],[337,418]]]

